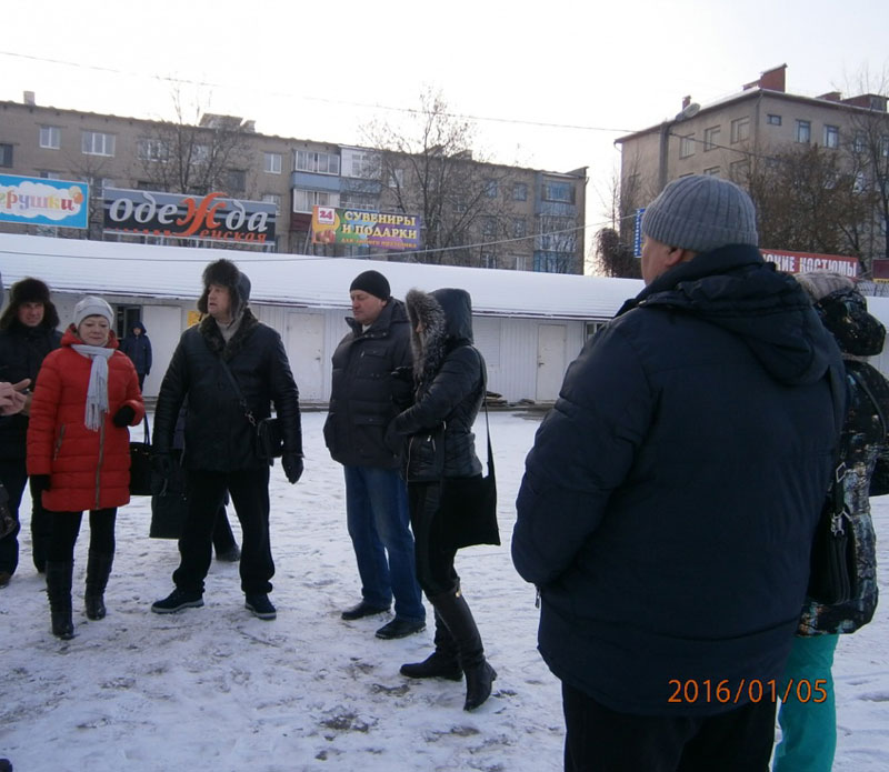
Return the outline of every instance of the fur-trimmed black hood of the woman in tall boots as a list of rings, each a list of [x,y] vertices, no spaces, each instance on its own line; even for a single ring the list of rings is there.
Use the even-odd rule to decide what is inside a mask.
[[[451,349],[472,344],[472,299],[460,289],[410,290],[404,305],[410,321],[413,380],[419,385],[438,372]],[[421,334],[417,332],[418,324]]]

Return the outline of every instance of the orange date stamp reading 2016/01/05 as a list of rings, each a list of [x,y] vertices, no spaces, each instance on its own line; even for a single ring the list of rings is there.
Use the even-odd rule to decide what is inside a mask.
[[[781,683],[775,679],[741,679],[732,683],[728,679],[713,681],[711,679],[670,679],[668,684],[672,693],[667,702],[692,704],[696,702],[718,702],[721,704],[741,704],[746,702],[823,702],[827,700],[827,679],[789,679]]]

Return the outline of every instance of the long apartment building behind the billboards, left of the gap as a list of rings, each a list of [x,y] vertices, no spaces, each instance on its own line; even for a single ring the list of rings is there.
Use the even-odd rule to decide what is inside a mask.
[[[423,258],[431,262],[583,272],[586,168],[548,172],[480,163],[466,154],[449,160],[461,169],[465,184],[446,191],[433,208],[427,202],[424,212],[423,181],[412,160],[262,134],[253,121],[232,116],[203,114],[193,126],[167,123],[42,107],[26,92],[22,102],[0,102],[0,176],[88,183],[88,227],[0,221],[0,232],[402,259],[373,245],[312,243],[318,205],[418,215],[423,243],[430,243],[428,229],[438,229],[437,237],[441,231],[432,240],[433,257]],[[142,198],[116,191],[140,191]],[[184,218],[186,195],[231,200],[242,219],[262,218],[263,233],[204,228],[186,237],[187,231],[177,235],[148,215],[143,228],[133,222],[140,205],[152,212],[167,207]],[[150,204],[142,201],[149,198]],[[110,222],[109,211],[123,225]]]

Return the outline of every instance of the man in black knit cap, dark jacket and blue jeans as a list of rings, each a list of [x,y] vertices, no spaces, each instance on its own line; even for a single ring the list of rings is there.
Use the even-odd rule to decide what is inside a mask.
[[[426,626],[413,562],[413,537],[401,460],[386,447],[386,429],[410,401],[410,385],[392,377],[409,368],[410,331],[404,304],[391,297],[378,271],[364,271],[349,288],[353,317],[350,332],[333,352],[330,412],[324,441],[343,465],[346,521],[352,540],[361,601],[342,612],[356,620],[389,610],[396,616],[377,631],[378,638],[403,638]]]

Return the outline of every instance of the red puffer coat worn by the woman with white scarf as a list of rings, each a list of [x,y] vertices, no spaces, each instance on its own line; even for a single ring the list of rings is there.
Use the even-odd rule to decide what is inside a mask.
[[[111,417],[123,405],[146,414],[132,362],[119,351],[108,360],[108,414],[99,431],[84,423],[92,362],[71,345],[82,343],[66,330],[61,348],[43,360],[37,377],[28,427],[28,474],[49,474],[43,507],[53,512],[82,512],[121,507],[130,500],[130,432]],[[117,349],[114,333],[107,348]]]

